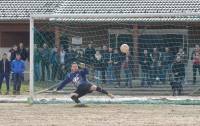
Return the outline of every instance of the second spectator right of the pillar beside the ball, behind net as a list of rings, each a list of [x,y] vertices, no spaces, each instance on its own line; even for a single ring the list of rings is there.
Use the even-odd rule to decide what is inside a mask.
[[[162,55],[161,53],[157,50],[157,48],[153,48],[153,52],[150,54],[151,58],[151,82],[154,83],[160,81],[160,75],[161,75],[161,60],[162,60]]]

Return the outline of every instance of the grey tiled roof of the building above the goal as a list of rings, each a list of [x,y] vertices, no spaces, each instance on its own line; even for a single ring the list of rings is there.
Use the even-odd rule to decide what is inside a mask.
[[[199,12],[199,0],[1,0],[0,20],[27,20],[32,14]],[[145,19],[145,18],[144,18]],[[163,18],[163,20],[194,18]],[[141,20],[141,18],[126,20]],[[142,19],[143,20],[143,19]],[[146,20],[160,20],[148,18]],[[200,20],[195,18],[194,21]]]

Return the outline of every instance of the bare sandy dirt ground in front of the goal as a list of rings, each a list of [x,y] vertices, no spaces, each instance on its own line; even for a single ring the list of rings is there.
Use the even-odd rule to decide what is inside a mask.
[[[0,104],[0,126],[199,126],[200,106]]]

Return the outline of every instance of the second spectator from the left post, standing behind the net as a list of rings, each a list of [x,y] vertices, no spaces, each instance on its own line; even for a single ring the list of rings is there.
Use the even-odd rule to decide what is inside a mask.
[[[45,70],[47,72],[47,79],[50,80],[50,51],[46,43],[44,43],[41,50],[41,67],[42,67],[42,81],[45,81]]]

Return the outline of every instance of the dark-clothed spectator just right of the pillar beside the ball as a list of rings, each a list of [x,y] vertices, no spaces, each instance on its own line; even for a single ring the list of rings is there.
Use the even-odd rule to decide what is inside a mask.
[[[141,86],[145,86],[145,83],[149,87],[151,87],[151,82],[150,82],[150,65],[151,65],[151,58],[148,54],[148,51],[145,49],[144,53],[141,55],[140,59],[140,65],[142,69],[142,81],[141,81]]]

